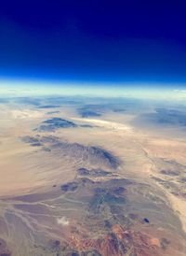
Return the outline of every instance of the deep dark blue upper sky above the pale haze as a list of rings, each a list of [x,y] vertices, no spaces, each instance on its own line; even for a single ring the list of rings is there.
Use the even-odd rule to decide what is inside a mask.
[[[184,1],[1,1],[0,77],[186,81]]]

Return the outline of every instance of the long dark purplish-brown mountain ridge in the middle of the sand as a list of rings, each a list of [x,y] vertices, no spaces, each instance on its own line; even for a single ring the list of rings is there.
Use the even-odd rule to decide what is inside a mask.
[[[51,122],[51,120],[48,120]],[[107,171],[100,169],[102,166],[116,169],[120,160],[105,149],[95,146],[84,146],[79,143],[61,142],[57,136],[24,136],[21,138],[25,143],[30,143],[32,146],[43,146],[47,151],[55,151],[60,157],[67,155],[74,160],[81,160],[83,163],[93,164],[98,169],[93,169],[89,172],[90,176],[106,176],[109,175]],[[79,171],[81,173],[83,171]],[[82,173],[83,174],[83,173]],[[87,172],[85,172],[87,175]]]

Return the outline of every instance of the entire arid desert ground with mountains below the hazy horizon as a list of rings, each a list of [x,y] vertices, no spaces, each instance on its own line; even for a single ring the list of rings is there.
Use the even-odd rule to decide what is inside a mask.
[[[0,103],[1,256],[185,256],[185,107]]]

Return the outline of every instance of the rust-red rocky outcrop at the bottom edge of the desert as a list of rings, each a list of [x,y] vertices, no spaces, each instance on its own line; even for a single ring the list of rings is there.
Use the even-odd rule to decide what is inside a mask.
[[[102,256],[161,255],[161,243],[158,238],[140,232],[124,230],[119,225],[113,226],[112,232],[108,235],[97,239],[73,237],[71,239],[71,246],[77,251],[82,251],[82,254],[79,255],[86,255],[84,253],[91,249],[96,250]]]

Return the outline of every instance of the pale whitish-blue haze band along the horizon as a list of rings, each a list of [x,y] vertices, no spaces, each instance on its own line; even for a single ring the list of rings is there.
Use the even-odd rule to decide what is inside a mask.
[[[37,80],[1,80],[0,97],[37,96],[86,96],[109,98],[140,98],[166,100],[185,105],[184,84],[134,84],[134,83],[88,83],[52,82]]]

